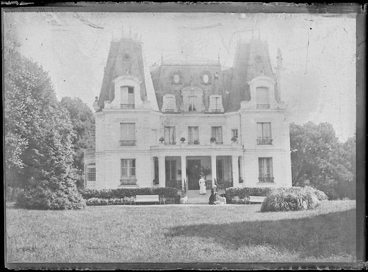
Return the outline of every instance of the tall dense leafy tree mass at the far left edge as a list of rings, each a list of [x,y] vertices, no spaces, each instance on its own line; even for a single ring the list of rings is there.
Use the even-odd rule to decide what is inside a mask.
[[[5,52],[6,184],[23,189],[25,208],[81,208],[72,165],[72,124],[48,73],[15,50]]]

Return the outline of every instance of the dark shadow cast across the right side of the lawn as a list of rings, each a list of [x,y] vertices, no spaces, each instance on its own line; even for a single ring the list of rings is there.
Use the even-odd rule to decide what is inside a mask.
[[[227,249],[269,245],[305,257],[356,256],[356,209],[290,220],[175,226],[167,236],[212,238]]]

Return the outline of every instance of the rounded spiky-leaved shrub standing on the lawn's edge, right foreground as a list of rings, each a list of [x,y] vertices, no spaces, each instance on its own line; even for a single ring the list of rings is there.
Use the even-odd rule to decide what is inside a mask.
[[[319,205],[320,200],[311,187],[275,188],[262,203],[261,212],[298,211]]]

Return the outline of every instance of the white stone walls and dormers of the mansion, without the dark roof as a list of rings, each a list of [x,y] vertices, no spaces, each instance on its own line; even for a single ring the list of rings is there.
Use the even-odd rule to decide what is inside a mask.
[[[182,88],[183,100],[178,102],[181,105],[176,106],[177,99],[168,94],[163,96],[159,110],[147,68],[144,73],[145,99],[139,95],[142,81],[135,75],[120,75],[113,79],[115,99],[104,100],[104,107],[95,113],[95,150],[86,150],[84,159],[86,169],[95,166],[95,178],[86,174],[86,188],[181,189],[188,182],[189,189],[194,189],[199,188],[197,182],[203,169],[209,169],[205,174],[211,181],[209,187],[221,182],[234,187],[291,186],[289,122],[284,103],[275,98],[274,78],[260,75],[247,81],[251,99],[239,101],[238,110],[226,112],[220,93],[204,97],[202,87],[193,87],[193,83]],[[121,106],[124,103],[119,99],[127,99],[119,95],[121,86],[134,88],[133,108]],[[258,107],[258,87],[268,90],[267,106]],[[193,103],[191,95],[195,95],[197,109],[188,111],[186,108]],[[166,97],[172,100],[167,102]],[[213,97],[220,97],[220,110],[216,112],[211,110],[216,108],[213,103],[206,101]],[[210,106],[206,110],[204,105]],[[258,135],[261,123],[268,133],[266,139]],[[135,132],[122,141],[124,124]],[[222,130],[221,137],[211,142],[215,130]]]

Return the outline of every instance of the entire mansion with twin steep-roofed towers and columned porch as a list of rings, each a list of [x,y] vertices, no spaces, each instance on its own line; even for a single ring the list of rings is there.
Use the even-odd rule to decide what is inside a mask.
[[[291,186],[282,55],[266,41],[238,41],[232,68],[183,56],[148,67],[142,42],[110,43],[95,108],[86,188]],[[273,72],[275,71],[275,72]]]

